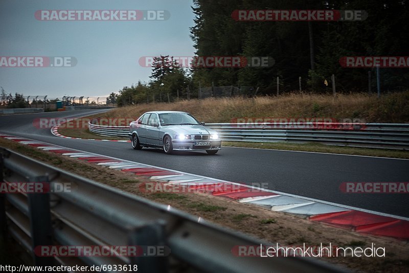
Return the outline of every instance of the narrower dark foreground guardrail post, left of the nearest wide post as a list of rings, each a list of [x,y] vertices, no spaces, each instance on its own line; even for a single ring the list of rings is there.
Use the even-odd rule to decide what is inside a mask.
[[[29,179],[31,183],[49,183],[48,176],[36,176]],[[50,185],[50,184],[49,184]],[[42,187],[43,190],[44,187]],[[29,218],[33,250],[39,245],[52,245],[52,226],[50,212],[50,194],[29,193]],[[38,257],[33,253],[35,265],[51,265],[52,257]]]

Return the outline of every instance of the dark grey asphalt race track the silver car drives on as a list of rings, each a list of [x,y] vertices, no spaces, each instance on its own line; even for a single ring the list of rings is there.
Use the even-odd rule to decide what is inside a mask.
[[[235,181],[319,200],[392,215],[409,217],[407,194],[346,194],[343,182],[408,182],[409,160],[323,153],[223,147],[206,152],[133,150],[130,143],[75,140],[55,137],[37,129],[35,118],[72,118],[106,110],[43,112],[0,116],[0,132],[168,169]]]

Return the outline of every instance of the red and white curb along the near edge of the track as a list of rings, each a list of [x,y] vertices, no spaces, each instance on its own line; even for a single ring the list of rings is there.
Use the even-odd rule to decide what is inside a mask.
[[[322,222],[343,229],[354,230],[359,233],[409,240],[409,218],[405,217],[363,210],[231,181],[126,161],[120,158],[69,149],[49,143],[14,137],[8,134],[0,133],[0,138],[9,139],[44,151],[78,158],[79,160],[95,163],[110,169],[131,172],[152,180],[163,181],[163,183],[169,185],[184,185],[197,190],[206,188],[205,192],[214,196],[223,196],[242,203],[256,204],[271,211],[305,216],[311,221]],[[220,187],[221,185],[223,187]]]

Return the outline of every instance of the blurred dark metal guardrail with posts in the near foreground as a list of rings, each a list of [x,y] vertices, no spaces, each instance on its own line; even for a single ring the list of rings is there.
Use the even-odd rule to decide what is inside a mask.
[[[0,223],[32,255],[35,265],[137,264],[138,272],[328,272],[341,269],[308,258],[237,257],[238,245],[267,242],[3,149],[5,183],[41,181],[71,192],[0,194]],[[1,177],[5,173],[4,177]],[[167,246],[167,257],[38,257],[38,245]]]

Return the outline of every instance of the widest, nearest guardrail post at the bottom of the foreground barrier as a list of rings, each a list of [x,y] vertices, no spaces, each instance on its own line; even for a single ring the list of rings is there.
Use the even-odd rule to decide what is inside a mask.
[[[149,253],[146,253],[147,247],[166,247],[165,236],[165,224],[163,220],[158,220],[153,223],[149,223],[129,233],[129,245],[141,246],[144,253],[138,257],[131,257],[131,264],[138,265],[138,269],[145,272],[168,272],[168,257],[160,256],[156,253],[156,256],[149,257]]]

